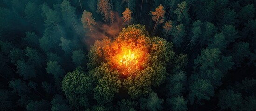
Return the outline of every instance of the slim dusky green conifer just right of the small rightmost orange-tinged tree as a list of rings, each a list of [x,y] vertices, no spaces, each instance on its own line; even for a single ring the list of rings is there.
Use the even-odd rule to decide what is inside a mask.
[[[186,35],[185,27],[183,24],[177,25],[172,31],[172,41],[176,47],[180,47],[183,42],[183,38]]]

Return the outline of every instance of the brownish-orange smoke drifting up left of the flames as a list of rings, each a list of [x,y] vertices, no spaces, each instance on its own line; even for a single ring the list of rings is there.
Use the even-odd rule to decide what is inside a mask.
[[[90,50],[90,46],[94,44],[97,40],[102,40],[105,37],[110,39],[114,39],[117,37],[119,32],[123,28],[123,19],[119,17],[118,12],[114,12],[115,14],[115,22],[112,24],[107,24],[103,22],[96,22],[96,25],[92,28],[92,33],[88,31],[85,34],[85,43],[87,45],[87,49]]]

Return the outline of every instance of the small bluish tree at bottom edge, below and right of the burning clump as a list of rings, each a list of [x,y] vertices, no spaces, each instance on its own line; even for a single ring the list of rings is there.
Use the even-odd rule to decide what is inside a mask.
[[[167,99],[167,102],[172,105],[173,111],[187,111],[187,100],[183,98],[183,96],[173,97],[171,99]]]

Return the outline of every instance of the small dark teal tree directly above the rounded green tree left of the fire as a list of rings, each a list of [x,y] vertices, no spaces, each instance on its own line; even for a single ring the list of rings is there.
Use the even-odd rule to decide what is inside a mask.
[[[82,64],[82,60],[85,58],[85,54],[83,50],[75,50],[72,51],[72,62],[75,63],[76,66]]]

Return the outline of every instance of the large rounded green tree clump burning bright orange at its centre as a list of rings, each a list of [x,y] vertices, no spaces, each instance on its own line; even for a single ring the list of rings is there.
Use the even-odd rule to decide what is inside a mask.
[[[174,58],[173,43],[149,37],[142,25],[124,28],[114,40],[96,41],[88,54],[94,99],[109,102],[123,87],[132,98],[151,93],[168,74],[167,62]]]

